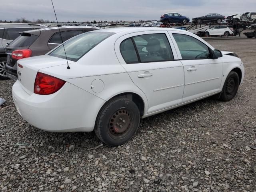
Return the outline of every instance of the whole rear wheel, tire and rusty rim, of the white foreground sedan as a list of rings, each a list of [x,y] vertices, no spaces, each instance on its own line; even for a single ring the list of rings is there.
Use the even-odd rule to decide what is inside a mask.
[[[138,130],[140,111],[127,98],[114,98],[100,110],[94,132],[108,146],[118,146],[128,142]]]

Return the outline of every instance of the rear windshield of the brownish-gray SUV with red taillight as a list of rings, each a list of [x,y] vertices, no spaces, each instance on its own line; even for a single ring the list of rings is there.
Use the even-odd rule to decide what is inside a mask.
[[[13,40],[9,47],[25,47],[30,46],[32,43],[38,38],[36,35],[32,35],[29,33],[22,33],[15,40]]]

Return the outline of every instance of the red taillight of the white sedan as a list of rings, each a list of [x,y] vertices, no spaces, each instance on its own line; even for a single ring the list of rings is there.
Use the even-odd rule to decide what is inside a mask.
[[[59,78],[37,72],[34,84],[34,93],[39,95],[49,95],[62,88],[66,81]]]

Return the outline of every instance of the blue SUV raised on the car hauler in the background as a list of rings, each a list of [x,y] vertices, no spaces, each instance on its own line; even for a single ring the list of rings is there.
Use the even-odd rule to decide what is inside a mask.
[[[163,22],[164,24],[170,22],[186,24],[189,22],[189,18],[178,13],[165,13],[161,16],[160,22]]]

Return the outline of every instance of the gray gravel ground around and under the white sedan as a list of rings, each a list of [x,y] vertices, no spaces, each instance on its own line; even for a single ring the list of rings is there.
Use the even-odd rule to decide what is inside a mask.
[[[50,133],[25,122],[0,81],[0,190],[256,192],[256,39],[209,41],[246,70],[230,102],[211,98],[141,121],[127,144],[94,133]],[[23,145],[22,145],[23,144]]]

